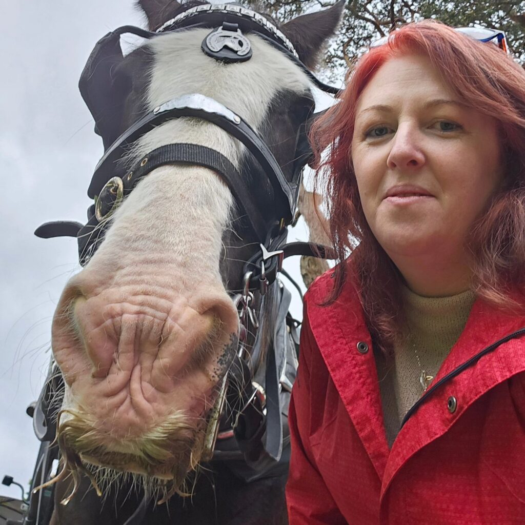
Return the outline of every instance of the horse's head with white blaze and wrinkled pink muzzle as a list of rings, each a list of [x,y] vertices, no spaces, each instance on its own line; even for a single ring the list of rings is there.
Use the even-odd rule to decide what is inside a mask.
[[[246,260],[293,219],[297,195],[281,188],[297,187],[297,158],[307,151],[304,125],[314,108],[307,68],[316,65],[343,3],[283,24],[279,38],[271,38],[276,23],[259,14],[265,31],[236,27],[244,10],[236,4],[222,5],[237,18],[212,36],[217,28],[199,13],[221,6],[139,5],[148,18],[146,42],[124,56],[119,35],[104,37],[80,83],[106,153],[90,186],[97,199],[91,229],[79,234],[84,267],[67,283],[53,321],[65,382],[58,441],[66,470],[89,475],[102,466],[169,480],[178,491],[202,459],[239,332],[250,341],[233,300],[249,288]],[[155,120],[163,111],[195,109],[195,93],[198,104],[212,100],[207,111],[222,111],[230,122],[203,119],[202,108]],[[142,131],[131,133],[138,122]],[[236,125],[262,139],[264,159],[254,155],[256,139],[239,140],[228,128]],[[142,176],[151,153],[170,144],[191,145],[190,156],[192,148],[211,151],[215,160],[170,158]],[[268,156],[278,180],[262,165]],[[225,172],[238,177],[245,197]],[[120,182],[108,183],[114,173]]]

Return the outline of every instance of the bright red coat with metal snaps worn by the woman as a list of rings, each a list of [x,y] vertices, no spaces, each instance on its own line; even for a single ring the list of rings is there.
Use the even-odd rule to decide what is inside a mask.
[[[525,524],[525,335],[427,392],[390,450],[354,285],[318,306],[332,283],[325,274],[305,297],[289,415],[291,525]],[[524,327],[525,316],[477,300],[433,385]]]

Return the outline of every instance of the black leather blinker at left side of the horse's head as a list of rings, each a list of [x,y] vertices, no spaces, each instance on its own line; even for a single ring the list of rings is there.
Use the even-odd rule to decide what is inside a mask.
[[[125,102],[132,91],[131,77],[121,67],[123,61],[120,33],[108,33],[91,51],[78,82],[104,150],[120,135]]]

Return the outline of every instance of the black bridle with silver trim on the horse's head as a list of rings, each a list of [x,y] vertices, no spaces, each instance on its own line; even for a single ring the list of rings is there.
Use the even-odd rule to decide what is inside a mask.
[[[299,66],[314,85],[328,93],[337,93],[339,90],[325,85],[318,80],[302,64],[293,49],[293,45],[281,33],[276,26],[271,24],[267,18],[249,9],[236,4],[201,5],[186,10],[174,19],[165,23],[157,31],[145,31],[132,26],[124,26],[112,31],[99,41],[97,46],[116,46],[120,35],[132,33],[143,38],[157,37],[163,33],[187,29],[189,27],[214,28],[212,33],[223,31],[224,35],[234,39],[234,44],[240,46],[249,45],[249,40],[244,33],[257,34],[272,46],[279,49],[294,64]],[[211,35],[211,34],[210,34]],[[210,36],[208,35],[208,37]],[[244,40],[243,40],[244,39]],[[248,41],[248,43],[246,43]],[[219,51],[214,51],[208,44],[211,41],[205,39],[203,51],[217,60],[236,61],[235,50],[227,46]],[[233,45],[232,45],[233,47]],[[93,53],[97,53],[97,48]],[[246,48],[244,48],[243,61],[246,60]],[[215,54],[215,55],[214,55]],[[93,55],[93,54],[92,54]],[[82,79],[80,83],[82,91]],[[83,94],[83,93],[82,93]],[[268,223],[257,206],[254,192],[241,176],[237,168],[222,153],[197,144],[173,143],[161,146],[144,155],[134,166],[125,169],[120,162],[124,151],[129,150],[132,143],[143,137],[154,127],[182,117],[198,118],[212,122],[226,131],[246,147],[261,167],[264,177],[272,187],[275,194],[276,215],[279,220]],[[307,122],[303,123],[300,132],[305,133]],[[236,204],[243,215],[247,217],[250,230],[259,242],[259,248],[254,252],[243,270],[243,289],[240,293],[233,295],[240,321],[239,350],[235,358],[235,366],[230,367],[227,378],[219,394],[216,406],[215,422],[213,429],[208,428],[211,433],[209,452],[211,459],[227,459],[231,456],[228,451],[214,450],[217,432],[219,431],[220,413],[222,404],[232,392],[236,395],[238,409],[236,416],[230,418],[230,428],[223,432],[223,438],[232,432],[248,465],[256,470],[266,472],[272,464],[278,463],[282,451],[282,422],[281,402],[279,399],[282,385],[291,382],[283,375],[283,367],[286,368],[290,348],[295,352],[295,342],[290,337],[295,337],[296,325],[290,322],[287,316],[289,306],[289,292],[279,288],[274,293],[272,304],[272,319],[265,319],[275,328],[274,345],[266,359],[265,387],[254,381],[254,370],[248,364],[247,350],[245,348],[246,332],[248,328],[257,330],[259,321],[254,309],[254,292],[266,295],[270,287],[277,279],[278,272],[282,269],[284,258],[292,255],[306,255],[323,258],[334,258],[333,250],[324,246],[309,243],[286,244],[287,226],[293,224],[297,218],[297,202],[303,167],[309,158],[308,152],[297,155],[293,168],[292,180],[288,181],[283,175],[281,167],[268,145],[253,130],[250,125],[238,114],[226,108],[216,100],[204,97],[198,93],[191,93],[184,97],[173,99],[156,107],[135,122],[120,137],[107,148],[103,157],[97,164],[89,186],[88,195],[95,198],[95,204],[88,209],[88,222],[83,225],[77,222],[61,221],[46,223],[37,228],[35,234],[39,237],[49,238],[58,236],[77,237],[79,246],[80,264],[86,265],[104,237],[104,230],[108,228],[108,220],[116,211],[123,199],[133,190],[138,182],[156,168],[166,164],[186,164],[205,166],[215,171],[227,184],[232,192]],[[279,341],[279,343],[277,342]],[[252,352],[260,352],[257,348],[257,339]],[[283,364],[284,363],[284,364]],[[296,365],[295,365],[296,366]],[[259,371],[260,374],[260,371]],[[295,369],[293,370],[295,377]],[[284,378],[284,379],[283,379]],[[56,381],[56,380],[54,380]],[[263,382],[262,380],[260,380]],[[49,382],[48,382],[49,383]],[[230,389],[228,390],[227,384]],[[233,387],[232,387],[233,386]],[[46,384],[49,389],[49,384]],[[289,388],[285,390],[289,395]],[[239,392],[241,399],[239,401]],[[232,400],[230,404],[234,401]],[[266,404],[266,408],[265,408]],[[52,415],[43,403],[38,403],[36,413],[40,419],[44,418],[48,427],[53,427]],[[35,427],[36,429],[36,427]],[[37,432],[38,434],[38,432]],[[266,438],[263,436],[266,434]],[[44,441],[48,440],[49,432],[40,432],[38,437]],[[219,447],[220,448],[220,447]],[[234,451],[236,454],[238,452]]]

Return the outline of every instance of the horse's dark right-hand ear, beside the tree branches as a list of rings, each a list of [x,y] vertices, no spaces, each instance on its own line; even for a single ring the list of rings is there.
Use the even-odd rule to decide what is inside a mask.
[[[340,0],[329,9],[298,16],[282,26],[299,58],[309,69],[316,67],[323,44],[337,30],[345,3],[346,0]]]

